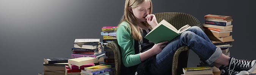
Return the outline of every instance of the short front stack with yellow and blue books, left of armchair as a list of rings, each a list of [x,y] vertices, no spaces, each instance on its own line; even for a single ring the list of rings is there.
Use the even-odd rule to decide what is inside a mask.
[[[96,65],[84,68],[81,75],[110,75],[109,72],[111,71],[110,65]]]

